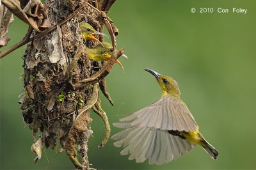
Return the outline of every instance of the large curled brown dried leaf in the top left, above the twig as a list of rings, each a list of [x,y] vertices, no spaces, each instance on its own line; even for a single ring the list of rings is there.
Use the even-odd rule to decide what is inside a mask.
[[[33,29],[38,32],[42,32],[48,27],[51,27],[51,23],[45,12],[44,4],[40,0],[30,1],[18,1],[18,0],[1,0],[4,6],[16,15],[20,20],[23,20],[29,24]],[[20,3],[22,5],[20,5]],[[25,8],[22,10],[22,6]],[[32,13],[34,12],[34,13]]]

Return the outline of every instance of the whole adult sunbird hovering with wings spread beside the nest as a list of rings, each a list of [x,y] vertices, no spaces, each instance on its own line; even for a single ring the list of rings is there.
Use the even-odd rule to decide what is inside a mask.
[[[163,164],[177,159],[196,144],[216,159],[218,151],[205,141],[186,104],[180,99],[180,89],[175,80],[154,70],[152,73],[162,90],[162,97],[148,107],[113,123],[125,128],[111,139],[118,140],[116,147],[124,147],[121,155],[130,154],[129,160],[149,160],[149,164]]]

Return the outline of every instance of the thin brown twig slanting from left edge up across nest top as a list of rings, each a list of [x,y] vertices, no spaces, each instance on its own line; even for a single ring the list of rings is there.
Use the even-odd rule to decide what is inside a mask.
[[[83,4],[81,4],[81,6],[79,6],[79,8],[77,8],[76,11],[74,11],[73,13],[71,13],[70,15],[68,15],[67,18],[65,18],[64,20],[62,20],[60,23],[58,23],[57,25],[58,26],[62,26],[63,24],[65,24],[66,22],[68,22],[68,20],[72,19],[74,16],[77,15],[77,13],[84,8],[85,4],[87,3],[88,0],[84,0]],[[87,3],[88,4],[88,3]],[[29,36],[25,36],[25,38],[23,38],[23,40],[19,43],[16,43],[15,45],[13,45],[12,47],[10,47],[10,49],[8,50],[5,50],[4,52],[2,52],[0,54],[0,59],[3,58],[4,56],[6,56],[7,54],[10,54],[10,52],[13,52],[13,50],[16,50],[16,49],[19,49],[19,47],[22,47],[23,45],[25,45],[26,43],[29,43],[31,42],[32,40],[34,39],[37,39],[37,38],[41,38],[42,36],[46,35],[47,33],[50,33],[51,31],[53,31],[54,29],[56,29],[57,25],[55,26],[52,26],[50,27],[49,29],[46,29],[44,32],[42,33],[39,33],[38,35],[35,35],[31,38],[29,38],[29,36],[31,35],[32,33],[32,30],[31,30],[31,33],[29,34],[29,31],[27,33],[27,35],[29,34]]]

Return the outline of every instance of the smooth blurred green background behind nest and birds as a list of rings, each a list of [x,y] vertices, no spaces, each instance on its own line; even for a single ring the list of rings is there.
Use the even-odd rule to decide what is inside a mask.
[[[160,97],[152,68],[179,82],[181,98],[193,113],[200,131],[219,152],[212,160],[200,147],[169,164],[136,164],[120,155],[110,139],[103,149],[104,125],[91,112],[93,137],[89,159],[99,169],[255,169],[256,151],[256,1],[154,1],[118,0],[109,16],[120,30],[118,48],[129,60],[120,59],[125,72],[115,65],[108,75],[108,91],[115,106],[102,97],[102,108],[112,124]],[[199,8],[214,13],[199,13]],[[229,13],[218,13],[217,8]],[[232,8],[247,8],[246,14]],[[196,13],[191,13],[196,8]],[[28,26],[15,18],[8,47],[19,42]],[[106,31],[105,31],[106,32]],[[110,39],[108,40],[110,42]],[[2,51],[7,49],[4,47]],[[22,54],[26,45],[0,60],[1,169],[74,169],[67,155],[42,151],[34,164],[32,132],[22,123],[18,96]],[[112,127],[112,134],[119,129]]]

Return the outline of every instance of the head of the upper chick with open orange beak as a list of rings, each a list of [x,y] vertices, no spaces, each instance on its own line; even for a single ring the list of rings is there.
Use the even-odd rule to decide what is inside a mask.
[[[80,33],[84,40],[94,40],[96,42],[100,41],[94,37],[94,35],[105,35],[104,33],[100,33],[99,31],[96,31],[90,24],[87,22],[82,22],[80,24]]]

